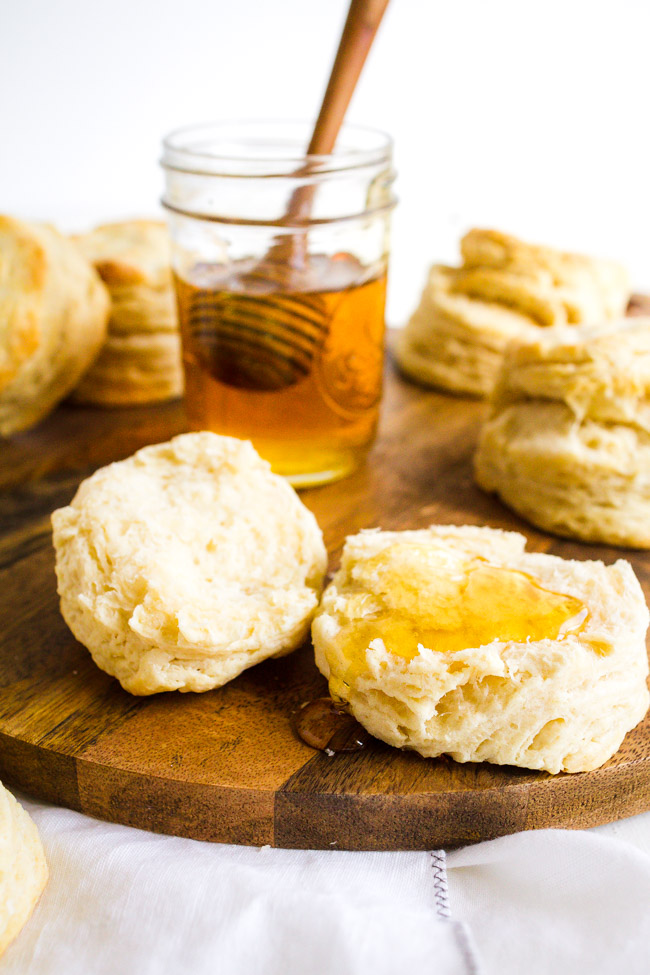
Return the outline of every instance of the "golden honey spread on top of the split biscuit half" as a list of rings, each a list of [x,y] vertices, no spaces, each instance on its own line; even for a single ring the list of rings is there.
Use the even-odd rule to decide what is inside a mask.
[[[431,571],[426,564],[434,565],[436,555],[438,569]],[[364,580],[372,584],[371,594]],[[495,640],[561,640],[581,632],[588,618],[581,600],[545,589],[525,572],[482,558],[453,559],[447,552],[409,543],[389,546],[369,559],[361,566],[359,582],[365,591],[351,597],[358,618],[337,638],[347,665],[344,683],[366,670],[365,651],[373,640],[382,640],[394,656],[412,660],[421,647],[455,653]]]

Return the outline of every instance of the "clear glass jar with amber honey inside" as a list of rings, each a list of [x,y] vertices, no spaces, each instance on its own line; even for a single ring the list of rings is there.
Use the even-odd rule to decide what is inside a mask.
[[[382,388],[391,140],[196,126],[164,141],[188,422],[251,440],[295,486],[363,460]]]

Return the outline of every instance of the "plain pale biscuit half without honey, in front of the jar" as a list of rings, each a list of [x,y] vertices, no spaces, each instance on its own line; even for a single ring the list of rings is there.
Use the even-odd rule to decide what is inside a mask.
[[[96,471],[52,524],[63,617],[132,694],[220,687],[309,632],[322,534],[247,441],[145,447]]]

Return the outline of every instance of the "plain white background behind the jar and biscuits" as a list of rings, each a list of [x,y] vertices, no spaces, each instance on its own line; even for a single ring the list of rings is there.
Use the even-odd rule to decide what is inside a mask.
[[[161,136],[312,118],[347,0],[0,0],[0,209],[155,213]],[[389,318],[472,225],[650,290],[650,3],[392,0],[349,111],[396,140]]]

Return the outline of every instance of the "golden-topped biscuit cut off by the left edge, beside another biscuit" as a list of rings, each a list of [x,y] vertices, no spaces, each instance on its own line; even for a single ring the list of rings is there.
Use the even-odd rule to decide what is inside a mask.
[[[0,216],[0,435],[42,420],[106,336],[109,297],[53,227]]]

